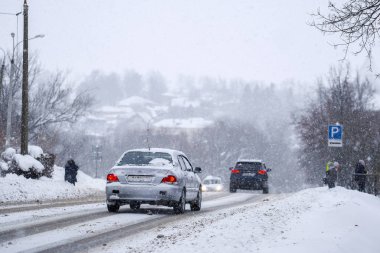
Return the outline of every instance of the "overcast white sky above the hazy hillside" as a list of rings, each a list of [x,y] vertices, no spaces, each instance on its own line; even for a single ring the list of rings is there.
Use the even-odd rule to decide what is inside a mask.
[[[80,78],[94,69],[313,84],[343,57],[307,25],[327,0],[29,0],[30,42],[43,67]],[[1,0],[0,12],[23,0]],[[22,16],[19,19],[22,38]],[[0,47],[16,17],[0,15]],[[366,70],[364,57],[350,56]],[[376,59],[375,59],[376,60]]]

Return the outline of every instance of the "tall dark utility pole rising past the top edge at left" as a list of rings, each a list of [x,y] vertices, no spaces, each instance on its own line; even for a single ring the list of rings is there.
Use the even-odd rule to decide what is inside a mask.
[[[22,105],[21,105],[21,154],[28,154],[28,120],[29,120],[29,88],[28,88],[28,3],[24,0],[24,38],[22,63]]]

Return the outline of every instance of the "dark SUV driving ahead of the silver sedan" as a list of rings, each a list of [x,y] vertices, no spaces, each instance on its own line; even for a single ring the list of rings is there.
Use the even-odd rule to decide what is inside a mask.
[[[267,172],[271,170],[261,160],[239,160],[230,170],[230,192],[237,189],[263,190],[264,194],[269,192]]]

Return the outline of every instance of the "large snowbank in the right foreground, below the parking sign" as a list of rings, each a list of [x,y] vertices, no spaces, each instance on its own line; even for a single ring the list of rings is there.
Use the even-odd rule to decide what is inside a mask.
[[[337,187],[203,213],[94,252],[380,252],[380,199]]]

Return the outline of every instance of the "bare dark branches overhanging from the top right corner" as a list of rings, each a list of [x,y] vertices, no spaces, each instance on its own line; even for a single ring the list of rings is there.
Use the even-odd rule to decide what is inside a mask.
[[[313,14],[311,25],[324,33],[338,34],[342,42],[334,46],[343,46],[345,57],[350,46],[355,47],[354,54],[365,52],[372,70],[372,49],[380,35],[380,0],[348,0],[339,7],[329,2],[328,8],[328,14],[320,10]]]

